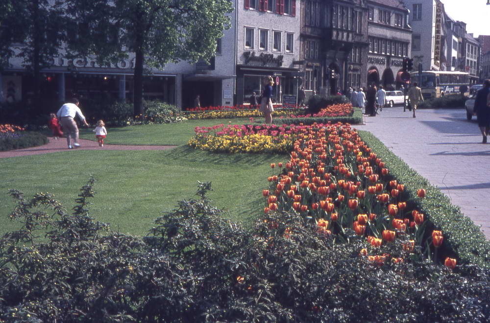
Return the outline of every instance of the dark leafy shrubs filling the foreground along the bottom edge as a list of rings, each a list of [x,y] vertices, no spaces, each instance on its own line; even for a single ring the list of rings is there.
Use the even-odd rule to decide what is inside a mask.
[[[210,185],[200,184],[199,199],[179,202],[141,239],[89,217],[93,184],[73,214],[49,194],[27,201],[10,191],[18,201],[10,216],[22,228],[0,238],[0,320],[490,320],[488,270],[420,260],[419,250],[401,248],[403,236],[373,248],[350,231],[338,244],[296,213],[269,213],[245,231],[223,219],[205,196]],[[370,261],[363,248],[386,258]]]

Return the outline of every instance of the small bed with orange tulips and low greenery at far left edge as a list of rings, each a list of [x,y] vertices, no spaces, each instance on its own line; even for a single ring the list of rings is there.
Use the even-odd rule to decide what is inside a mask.
[[[0,124],[0,151],[40,146],[48,143],[48,138],[39,133],[27,132],[24,128]]]

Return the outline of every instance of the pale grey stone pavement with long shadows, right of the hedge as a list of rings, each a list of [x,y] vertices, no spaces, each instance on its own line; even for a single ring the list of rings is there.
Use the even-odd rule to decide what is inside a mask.
[[[476,117],[465,109],[385,108],[355,126],[379,138],[392,152],[446,194],[490,239],[490,143],[482,144]]]

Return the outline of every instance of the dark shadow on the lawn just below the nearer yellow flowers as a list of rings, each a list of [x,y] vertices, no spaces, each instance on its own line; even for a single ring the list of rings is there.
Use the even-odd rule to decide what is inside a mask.
[[[200,149],[194,149],[187,145],[178,146],[171,150],[165,151],[165,154],[172,155],[174,159],[185,161],[215,163],[220,165],[233,165],[236,163],[248,164],[250,166],[260,165],[264,162],[269,162],[271,158],[276,158],[277,161],[287,161],[288,154],[265,154],[265,153],[212,153]]]

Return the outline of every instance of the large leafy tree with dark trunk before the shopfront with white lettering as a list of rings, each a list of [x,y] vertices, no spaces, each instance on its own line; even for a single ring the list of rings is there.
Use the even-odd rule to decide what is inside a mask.
[[[95,55],[108,65],[135,53],[135,116],[144,113],[145,69],[209,60],[233,10],[230,0],[59,0],[58,5],[76,34],[68,39],[73,55]]]

